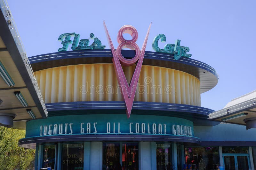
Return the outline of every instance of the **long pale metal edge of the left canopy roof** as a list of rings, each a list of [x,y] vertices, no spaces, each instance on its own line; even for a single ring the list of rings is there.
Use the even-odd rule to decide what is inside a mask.
[[[2,11],[0,14],[0,36],[9,51],[13,62],[19,70],[34,102],[36,103],[41,116],[46,118],[48,117],[48,112],[46,110],[43,97],[40,93],[34,72],[16,29],[10,8],[5,0],[0,1],[0,8]]]

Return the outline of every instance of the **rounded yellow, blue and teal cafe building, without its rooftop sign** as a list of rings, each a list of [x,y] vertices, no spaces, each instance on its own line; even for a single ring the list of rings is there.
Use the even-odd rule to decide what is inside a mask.
[[[209,120],[213,110],[200,106],[218,81],[212,67],[145,52],[127,118],[112,57],[102,49],[29,58],[49,117],[28,121],[19,144],[36,148],[38,169],[254,169],[254,129]],[[123,67],[127,80],[134,67]]]

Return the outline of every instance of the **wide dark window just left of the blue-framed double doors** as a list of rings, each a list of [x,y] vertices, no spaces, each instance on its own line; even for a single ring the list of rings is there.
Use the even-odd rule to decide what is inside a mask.
[[[187,147],[185,148],[185,164],[192,169],[218,169],[219,147]]]

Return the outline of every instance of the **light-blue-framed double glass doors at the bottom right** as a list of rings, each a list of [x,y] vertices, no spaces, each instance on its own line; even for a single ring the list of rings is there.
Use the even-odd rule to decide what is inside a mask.
[[[223,154],[225,170],[248,170],[248,155],[225,155]]]

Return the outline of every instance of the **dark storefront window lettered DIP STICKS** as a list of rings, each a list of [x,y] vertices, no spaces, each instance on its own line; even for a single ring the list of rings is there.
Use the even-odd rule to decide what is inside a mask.
[[[84,169],[84,144],[62,144],[62,170]]]

